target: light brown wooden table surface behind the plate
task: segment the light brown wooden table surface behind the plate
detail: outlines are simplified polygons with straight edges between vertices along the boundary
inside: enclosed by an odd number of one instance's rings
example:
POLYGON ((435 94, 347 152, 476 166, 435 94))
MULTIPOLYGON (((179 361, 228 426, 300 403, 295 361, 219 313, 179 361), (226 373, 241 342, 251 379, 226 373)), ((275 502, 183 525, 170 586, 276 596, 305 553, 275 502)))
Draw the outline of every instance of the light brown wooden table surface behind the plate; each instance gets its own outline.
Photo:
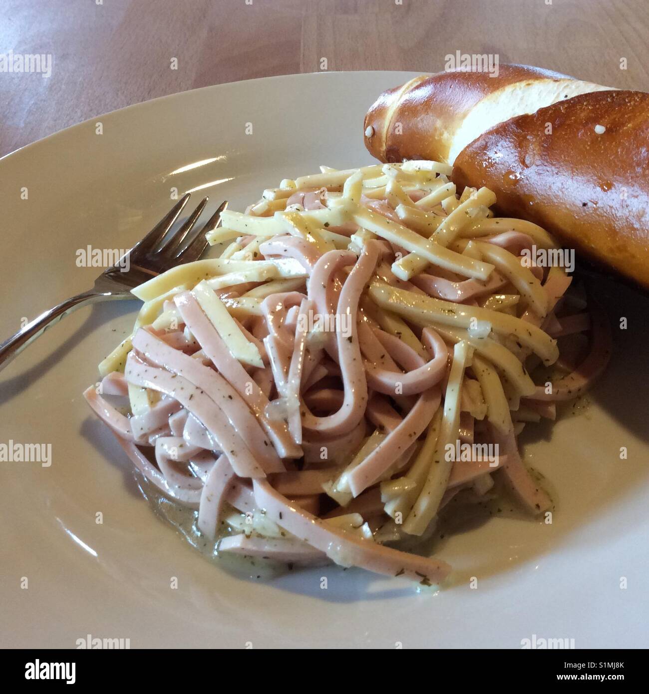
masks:
POLYGON ((52 60, 49 78, 0 72, 0 155, 132 103, 323 58, 438 71, 455 51, 494 53, 649 90, 647 0, 3 0, 0 26, 1 54, 52 60))

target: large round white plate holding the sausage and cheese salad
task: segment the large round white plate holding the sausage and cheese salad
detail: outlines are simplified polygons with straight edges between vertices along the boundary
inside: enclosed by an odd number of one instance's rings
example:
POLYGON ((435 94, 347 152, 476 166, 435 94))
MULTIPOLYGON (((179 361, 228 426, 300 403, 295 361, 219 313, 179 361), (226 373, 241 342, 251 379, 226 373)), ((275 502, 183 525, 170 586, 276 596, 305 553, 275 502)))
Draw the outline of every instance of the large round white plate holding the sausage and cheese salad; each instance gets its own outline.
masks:
MULTIPOLYGON (((128 248, 167 211, 171 187, 202 187, 212 209, 228 198, 242 210, 281 178, 368 163, 364 112, 411 76, 310 74, 208 87, 9 155, 0 162, 3 334, 90 287, 97 270, 78 268, 76 250, 128 248)), ((532 634, 574 638, 578 648, 649 645, 648 303, 615 287, 602 292, 615 328, 609 371, 582 414, 528 436, 528 456, 557 490, 553 524, 496 518, 450 537, 439 555, 459 578, 435 595, 339 568, 266 583, 203 559, 142 500, 130 464, 81 397, 137 303, 69 316, 0 375, 0 443, 51 443, 53 460, 48 468, 0 463, 1 645, 74 648, 87 634, 129 638, 132 648, 520 648, 532 634)))

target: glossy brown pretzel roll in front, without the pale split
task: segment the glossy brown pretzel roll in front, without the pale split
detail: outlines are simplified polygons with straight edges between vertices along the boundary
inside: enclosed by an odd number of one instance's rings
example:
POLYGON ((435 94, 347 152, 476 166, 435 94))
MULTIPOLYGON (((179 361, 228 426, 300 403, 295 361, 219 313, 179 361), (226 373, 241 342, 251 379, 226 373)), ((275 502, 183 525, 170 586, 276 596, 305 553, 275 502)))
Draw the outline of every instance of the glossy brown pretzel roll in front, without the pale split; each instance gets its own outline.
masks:
POLYGON ((453 180, 649 289, 649 94, 581 94, 508 120, 460 152, 453 180))

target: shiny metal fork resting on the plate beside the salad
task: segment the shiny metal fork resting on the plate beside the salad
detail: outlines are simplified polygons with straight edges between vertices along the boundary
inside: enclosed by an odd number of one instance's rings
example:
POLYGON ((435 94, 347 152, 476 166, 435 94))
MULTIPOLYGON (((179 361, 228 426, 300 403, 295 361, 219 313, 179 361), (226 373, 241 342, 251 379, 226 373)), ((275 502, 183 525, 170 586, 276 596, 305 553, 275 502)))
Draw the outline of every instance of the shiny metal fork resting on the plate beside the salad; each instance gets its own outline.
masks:
POLYGON ((167 232, 174 226, 174 222, 187 205, 188 200, 189 193, 180 198, 178 203, 151 229, 142 241, 137 242, 115 265, 104 270, 94 280, 92 289, 84 291, 83 294, 72 296, 49 311, 45 311, 31 323, 25 325, 22 330, 4 341, 0 345, 0 370, 22 352, 28 344, 40 337, 50 325, 58 323, 63 316, 67 316, 79 307, 98 301, 133 299, 135 296, 130 293, 133 287, 141 285, 142 282, 150 280, 171 267, 198 260, 203 255, 205 248, 208 247, 205 233, 219 226, 221 212, 225 210, 228 202, 221 203, 219 209, 212 214, 205 226, 194 230, 190 235, 189 232, 196 226, 196 221, 208 202, 208 198, 203 198, 196 210, 183 223, 183 226, 168 239, 165 239, 167 232))

